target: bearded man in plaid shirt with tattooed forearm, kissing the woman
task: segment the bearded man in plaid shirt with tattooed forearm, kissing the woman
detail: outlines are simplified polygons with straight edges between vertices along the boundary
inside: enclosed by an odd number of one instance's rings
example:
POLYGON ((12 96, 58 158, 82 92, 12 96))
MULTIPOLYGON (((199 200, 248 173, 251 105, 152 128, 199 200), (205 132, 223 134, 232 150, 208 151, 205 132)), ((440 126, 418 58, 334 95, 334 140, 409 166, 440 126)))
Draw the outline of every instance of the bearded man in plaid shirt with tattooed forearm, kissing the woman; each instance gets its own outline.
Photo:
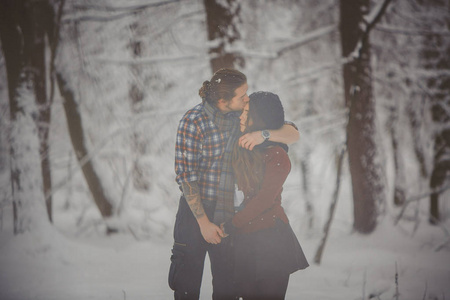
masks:
MULTIPOLYGON (((233 69, 217 71, 199 90, 202 103, 180 121, 176 180, 182 196, 174 227, 169 285, 175 299, 198 299, 206 252, 211 261, 213 299, 235 299, 233 252, 220 224, 234 214, 231 152, 239 136, 239 115, 248 103, 246 76, 233 69)), ((242 136, 249 150, 267 139, 290 144, 298 131, 289 125, 242 136)))

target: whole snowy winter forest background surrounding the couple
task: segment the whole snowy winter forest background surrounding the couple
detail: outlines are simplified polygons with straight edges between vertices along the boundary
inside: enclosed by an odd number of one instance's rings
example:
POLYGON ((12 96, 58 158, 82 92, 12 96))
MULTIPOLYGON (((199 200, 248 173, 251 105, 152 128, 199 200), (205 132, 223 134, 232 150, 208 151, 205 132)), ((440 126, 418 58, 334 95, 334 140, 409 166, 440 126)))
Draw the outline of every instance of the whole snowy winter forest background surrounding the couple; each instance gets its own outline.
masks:
POLYGON ((287 299, 450 299, 449 0, 0 0, 0 49, 0 299, 172 299, 176 130, 222 67, 299 128, 287 299))

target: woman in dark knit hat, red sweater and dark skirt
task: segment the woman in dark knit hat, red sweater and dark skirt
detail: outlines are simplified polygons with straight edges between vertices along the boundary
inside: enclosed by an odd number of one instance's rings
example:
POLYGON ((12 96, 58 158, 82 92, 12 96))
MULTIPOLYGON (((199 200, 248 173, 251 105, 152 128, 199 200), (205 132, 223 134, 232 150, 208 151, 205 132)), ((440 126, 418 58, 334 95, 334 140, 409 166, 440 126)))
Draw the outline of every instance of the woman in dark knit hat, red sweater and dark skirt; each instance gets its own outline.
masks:
MULTIPOLYGON (((240 120, 242 134, 280 128, 284 111, 279 97, 253 93, 240 120)), ((308 267, 281 206, 283 183, 291 169, 286 151, 286 145, 269 141, 253 151, 238 145, 233 150, 237 190, 243 197, 222 228, 234 241, 236 287, 245 300, 284 299, 289 275, 308 267)))

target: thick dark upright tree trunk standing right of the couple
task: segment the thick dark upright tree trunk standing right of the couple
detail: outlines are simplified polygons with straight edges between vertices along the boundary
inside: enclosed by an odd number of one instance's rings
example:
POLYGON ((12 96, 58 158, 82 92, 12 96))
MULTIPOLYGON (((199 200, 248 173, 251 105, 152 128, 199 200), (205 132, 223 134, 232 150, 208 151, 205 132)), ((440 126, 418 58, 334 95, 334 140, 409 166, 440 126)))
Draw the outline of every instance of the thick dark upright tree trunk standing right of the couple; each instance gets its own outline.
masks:
POLYGON ((344 92, 349 106, 347 148, 352 178, 354 224, 360 233, 372 232, 377 224, 383 185, 375 142, 375 99, 372 91, 370 44, 361 24, 369 11, 369 0, 340 1, 340 32, 344 57, 358 51, 344 65, 344 92))

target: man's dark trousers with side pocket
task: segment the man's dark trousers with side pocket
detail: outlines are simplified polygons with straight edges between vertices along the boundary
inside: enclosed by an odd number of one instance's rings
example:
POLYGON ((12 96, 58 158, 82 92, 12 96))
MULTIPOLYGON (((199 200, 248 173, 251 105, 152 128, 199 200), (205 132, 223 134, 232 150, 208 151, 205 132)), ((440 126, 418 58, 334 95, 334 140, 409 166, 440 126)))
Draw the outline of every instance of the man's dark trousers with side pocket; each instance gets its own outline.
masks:
MULTIPOLYGON (((205 207, 208 210, 207 207, 205 207)), ((211 215, 211 211, 207 211, 211 215)), ((213 300, 237 299, 233 284, 233 251, 230 238, 208 244, 186 200, 181 197, 174 228, 169 286, 175 300, 197 300, 200 295, 206 252, 211 261, 213 300)))

